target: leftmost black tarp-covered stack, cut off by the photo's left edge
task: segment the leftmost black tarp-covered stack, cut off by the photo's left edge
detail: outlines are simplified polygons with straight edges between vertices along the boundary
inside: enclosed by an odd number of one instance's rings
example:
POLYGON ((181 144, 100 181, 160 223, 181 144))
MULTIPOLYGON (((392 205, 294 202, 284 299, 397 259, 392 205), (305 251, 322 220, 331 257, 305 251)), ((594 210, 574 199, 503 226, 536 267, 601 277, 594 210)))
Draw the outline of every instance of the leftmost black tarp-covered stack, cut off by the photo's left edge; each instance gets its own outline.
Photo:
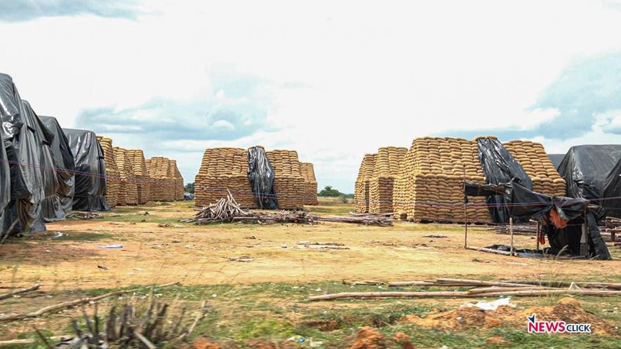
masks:
POLYGON ((45 198, 40 168, 42 139, 36 133, 36 121, 30 117, 34 113, 27 114, 24 105, 11 76, 0 74, 1 132, 11 172, 11 200, 1 222, 0 241, 20 231, 31 231, 45 198))

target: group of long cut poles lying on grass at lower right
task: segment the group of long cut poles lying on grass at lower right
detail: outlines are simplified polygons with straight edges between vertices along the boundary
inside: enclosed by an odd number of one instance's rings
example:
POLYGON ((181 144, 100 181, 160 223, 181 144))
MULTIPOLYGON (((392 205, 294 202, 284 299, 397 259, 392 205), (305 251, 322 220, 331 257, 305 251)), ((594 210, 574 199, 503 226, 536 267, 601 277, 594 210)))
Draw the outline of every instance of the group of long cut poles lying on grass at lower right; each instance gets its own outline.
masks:
MULTIPOLYGON (((370 285, 366 282, 349 282, 349 285, 370 285)), ((588 296, 621 296, 621 283, 606 282, 561 282, 545 280, 482 281, 462 279, 437 279, 435 281, 389 282, 389 287, 472 287, 467 291, 432 292, 341 292, 311 296, 310 301, 327 301, 350 298, 468 298, 487 296, 550 296, 554 294, 575 294, 588 296)))

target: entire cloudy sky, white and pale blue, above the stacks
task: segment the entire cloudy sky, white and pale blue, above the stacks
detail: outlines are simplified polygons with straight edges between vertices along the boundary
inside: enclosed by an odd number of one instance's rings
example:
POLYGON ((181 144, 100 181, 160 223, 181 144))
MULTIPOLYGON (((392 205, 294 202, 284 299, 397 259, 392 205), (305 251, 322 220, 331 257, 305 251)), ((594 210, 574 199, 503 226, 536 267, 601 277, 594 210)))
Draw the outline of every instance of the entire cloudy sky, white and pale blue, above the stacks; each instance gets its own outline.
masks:
POLYGON ((621 143, 621 0, 2 0, 0 72, 63 126, 178 159, 296 149, 352 192, 414 137, 621 143))

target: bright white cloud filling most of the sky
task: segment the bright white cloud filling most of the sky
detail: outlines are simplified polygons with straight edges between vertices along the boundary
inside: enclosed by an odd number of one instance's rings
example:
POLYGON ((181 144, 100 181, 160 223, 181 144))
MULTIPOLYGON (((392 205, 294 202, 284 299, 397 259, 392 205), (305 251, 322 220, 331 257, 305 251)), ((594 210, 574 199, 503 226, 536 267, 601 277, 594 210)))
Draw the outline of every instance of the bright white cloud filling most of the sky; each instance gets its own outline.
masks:
MULTIPOLYGON (((621 47, 621 12, 588 0, 148 4, 160 15, 0 23, 13 53, 3 55, 0 71, 13 76, 39 114, 63 125, 84 109, 131 109, 154 98, 191 103, 210 95, 243 104, 243 83, 215 81, 222 66, 265 81, 269 103, 259 107, 269 128, 252 136, 144 144, 116 136, 115 144, 142 146, 150 156, 180 156, 186 179, 206 146, 262 144, 297 149, 315 163, 320 186, 352 191, 363 154, 380 146, 551 120, 555 109, 529 109, 540 91, 573 57, 621 47)), ((135 119, 153 115, 164 117, 135 119)), ((251 119, 241 125, 255 127, 251 119)), ((562 149, 566 142, 546 145, 562 149)))

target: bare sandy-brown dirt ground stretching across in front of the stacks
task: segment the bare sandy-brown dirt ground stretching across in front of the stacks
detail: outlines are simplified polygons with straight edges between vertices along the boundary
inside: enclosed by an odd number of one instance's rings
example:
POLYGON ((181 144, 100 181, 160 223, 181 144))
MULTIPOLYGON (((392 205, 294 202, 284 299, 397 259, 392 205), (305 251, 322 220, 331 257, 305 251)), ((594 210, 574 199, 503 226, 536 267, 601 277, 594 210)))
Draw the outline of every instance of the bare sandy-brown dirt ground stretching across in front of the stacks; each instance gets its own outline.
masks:
MULTIPOLYGON (((333 207, 309 208, 330 213, 333 207)), ((105 219, 48 224, 47 233, 0 245, 0 286, 41 282, 44 290, 62 290, 173 281, 204 285, 484 276, 581 280, 596 275, 607 280, 621 273, 618 260, 554 261, 466 250, 463 227, 458 225, 192 226, 178 222, 194 212, 191 203, 178 202, 119 207, 106 213, 105 219), (55 238, 58 232, 63 235, 55 238), (347 249, 321 249, 300 242, 338 243, 347 249), (108 244, 123 248, 101 248, 108 244), (235 260, 240 257, 250 258, 235 260)), ((516 247, 535 247, 528 236, 516 236, 515 241, 516 247)), ((509 237, 474 226, 469 228, 468 242, 479 247, 508 245, 509 237)))

